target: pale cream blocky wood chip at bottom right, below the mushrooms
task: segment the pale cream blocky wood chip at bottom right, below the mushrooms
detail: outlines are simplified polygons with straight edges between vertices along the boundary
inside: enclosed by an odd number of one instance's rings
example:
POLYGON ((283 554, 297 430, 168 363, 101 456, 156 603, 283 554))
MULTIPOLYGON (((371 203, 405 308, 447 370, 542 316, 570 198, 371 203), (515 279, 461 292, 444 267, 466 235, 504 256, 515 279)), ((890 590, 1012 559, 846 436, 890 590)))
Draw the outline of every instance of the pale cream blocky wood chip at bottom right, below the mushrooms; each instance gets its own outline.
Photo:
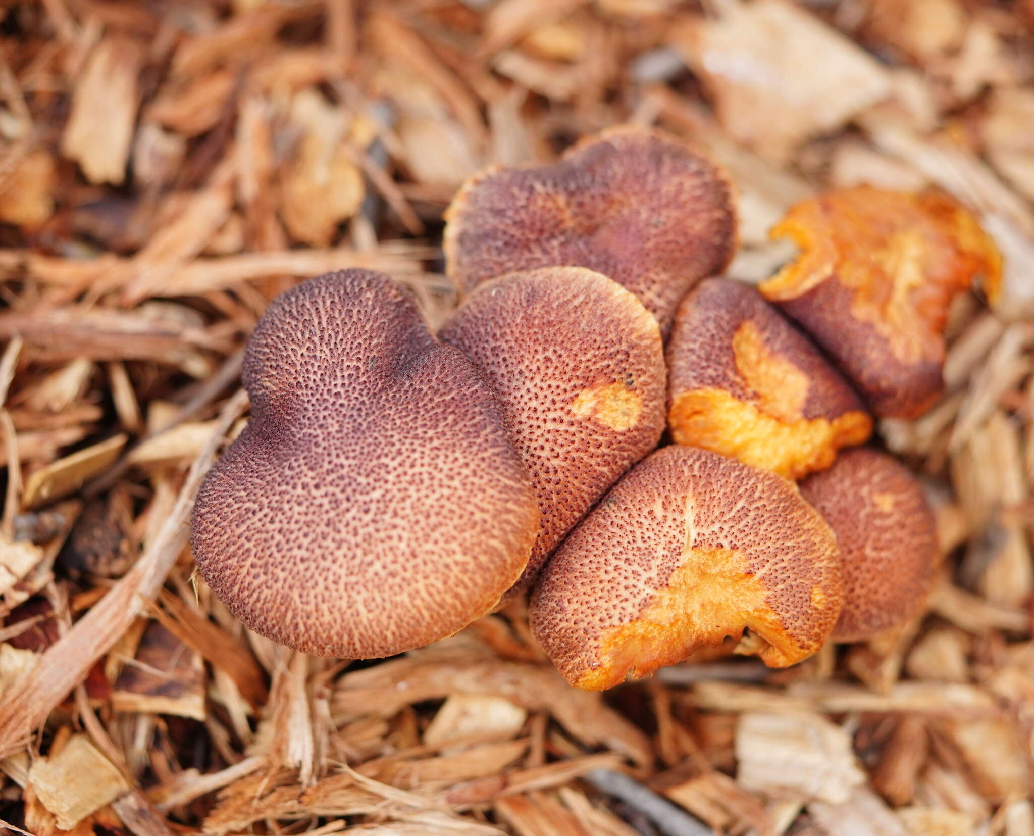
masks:
POLYGON ((865 782, 843 728, 816 714, 741 714, 736 778, 748 789, 843 804, 865 782))

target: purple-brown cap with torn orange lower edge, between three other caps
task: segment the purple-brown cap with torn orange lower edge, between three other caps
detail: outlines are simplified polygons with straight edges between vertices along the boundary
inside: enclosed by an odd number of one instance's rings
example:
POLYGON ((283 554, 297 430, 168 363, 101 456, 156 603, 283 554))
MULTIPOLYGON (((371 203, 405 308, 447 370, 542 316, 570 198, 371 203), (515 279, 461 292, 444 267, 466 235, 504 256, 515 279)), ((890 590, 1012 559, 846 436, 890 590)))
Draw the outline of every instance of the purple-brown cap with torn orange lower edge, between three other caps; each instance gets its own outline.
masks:
POLYGON ((703 447, 799 479, 863 444, 873 420, 817 348, 741 281, 709 278, 668 341, 668 423, 703 447))

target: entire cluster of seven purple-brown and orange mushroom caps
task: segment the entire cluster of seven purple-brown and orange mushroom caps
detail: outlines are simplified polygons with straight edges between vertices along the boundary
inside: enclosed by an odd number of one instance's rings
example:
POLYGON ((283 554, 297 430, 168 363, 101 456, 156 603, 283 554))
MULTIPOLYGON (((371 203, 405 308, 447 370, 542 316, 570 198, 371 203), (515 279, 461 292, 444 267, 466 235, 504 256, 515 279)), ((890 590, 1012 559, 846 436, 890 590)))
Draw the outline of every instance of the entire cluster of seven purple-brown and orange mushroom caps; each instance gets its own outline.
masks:
POLYGON ((996 291, 962 207, 825 195, 773 231, 801 251, 760 289, 708 278, 735 249, 728 182, 622 128, 484 172, 447 220, 464 300, 436 336, 392 279, 349 270, 281 295, 251 337, 251 421, 191 541, 248 627, 381 657, 534 588, 549 657, 602 689, 730 636, 793 664, 921 607, 920 484, 840 451, 872 414, 929 409, 951 298, 978 274, 996 291))

